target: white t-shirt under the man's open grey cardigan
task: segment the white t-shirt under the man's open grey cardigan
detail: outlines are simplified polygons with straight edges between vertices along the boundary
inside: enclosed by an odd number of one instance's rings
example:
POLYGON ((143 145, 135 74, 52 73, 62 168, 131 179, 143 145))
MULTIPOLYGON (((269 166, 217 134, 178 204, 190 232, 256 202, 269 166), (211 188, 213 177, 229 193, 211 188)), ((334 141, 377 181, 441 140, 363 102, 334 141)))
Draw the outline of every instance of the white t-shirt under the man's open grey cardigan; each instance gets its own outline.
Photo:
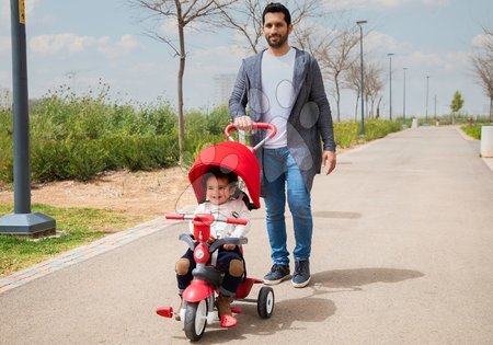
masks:
POLYGON ((283 56, 274 56, 268 50, 262 55, 263 122, 277 126, 277 134, 265 142, 265 148, 277 149, 287 146, 286 125, 295 103, 296 49, 283 56))

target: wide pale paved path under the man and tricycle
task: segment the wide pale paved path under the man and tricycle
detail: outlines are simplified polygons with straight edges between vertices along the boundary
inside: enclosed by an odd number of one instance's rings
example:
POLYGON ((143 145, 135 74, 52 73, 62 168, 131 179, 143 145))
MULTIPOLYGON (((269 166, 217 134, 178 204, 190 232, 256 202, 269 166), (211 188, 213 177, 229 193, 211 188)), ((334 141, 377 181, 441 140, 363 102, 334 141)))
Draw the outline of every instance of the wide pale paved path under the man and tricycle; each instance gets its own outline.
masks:
MULTIPOLYGON (((312 284, 276 286, 271 319, 245 304, 236 329, 209 326, 202 343, 492 344, 492 202, 479 142, 456 128, 345 152, 314 183, 312 284)), ((245 255, 262 277, 263 210, 253 217, 245 255)), ((0 344, 188 344, 177 322, 154 314, 176 304, 183 231, 153 220, 1 279, 0 344)))

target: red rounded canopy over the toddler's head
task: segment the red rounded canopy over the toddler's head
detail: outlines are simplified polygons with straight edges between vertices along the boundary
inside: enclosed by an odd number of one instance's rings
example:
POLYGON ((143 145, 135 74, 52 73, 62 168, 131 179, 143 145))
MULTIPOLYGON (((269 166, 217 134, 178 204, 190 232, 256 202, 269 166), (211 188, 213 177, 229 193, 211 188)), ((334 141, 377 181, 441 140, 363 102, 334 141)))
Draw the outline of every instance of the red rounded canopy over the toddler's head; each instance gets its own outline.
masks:
POLYGON ((198 203, 206 199, 202 176, 210 166, 220 166, 234 172, 243 180, 252 203, 260 208, 260 164, 251 148, 236 141, 225 141, 202 150, 188 172, 188 180, 198 203))

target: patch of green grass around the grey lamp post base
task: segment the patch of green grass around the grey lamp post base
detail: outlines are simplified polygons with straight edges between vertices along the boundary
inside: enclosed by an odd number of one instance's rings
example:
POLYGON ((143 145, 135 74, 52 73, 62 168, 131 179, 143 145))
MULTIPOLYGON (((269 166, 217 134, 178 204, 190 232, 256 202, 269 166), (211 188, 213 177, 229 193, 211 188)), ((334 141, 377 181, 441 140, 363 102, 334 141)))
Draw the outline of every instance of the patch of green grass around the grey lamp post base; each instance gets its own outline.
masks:
MULTIPOLYGON (((0 217, 13 211, 12 205, 0 204, 0 217)), ((70 249, 90 243, 107 232, 115 232, 140 219, 112 210, 79 207, 51 207, 34 204, 33 212, 42 212, 57 221, 60 237, 34 241, 27 237, 0 235, 0 276, 26 268, 70 249)))

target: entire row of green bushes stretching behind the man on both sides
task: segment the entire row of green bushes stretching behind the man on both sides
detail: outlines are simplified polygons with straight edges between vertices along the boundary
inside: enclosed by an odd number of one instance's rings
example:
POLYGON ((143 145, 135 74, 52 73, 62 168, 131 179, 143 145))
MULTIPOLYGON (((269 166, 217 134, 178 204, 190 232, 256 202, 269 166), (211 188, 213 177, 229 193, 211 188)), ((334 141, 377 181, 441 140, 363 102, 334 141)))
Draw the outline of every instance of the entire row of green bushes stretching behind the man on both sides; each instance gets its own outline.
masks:
MULTIPOLYGON (((151 170, 177 163, 177 117, 168 102, 116 104, 100 81, 95 92, 78 96, 67 85, 30 103, 31 172, 37 182, 88 181, 105 170, 151 170)), ((226 105, 185 116, 184 165, 207 146, 226 140, 226 105)), ((401 123, 368 119, 365 140, 401 129, 401 123)), ((337 145, 358 141, 359 124, 334 123, 337 145)), ((12 113, 0 111, 0 179, 11 182, 12 113)))

